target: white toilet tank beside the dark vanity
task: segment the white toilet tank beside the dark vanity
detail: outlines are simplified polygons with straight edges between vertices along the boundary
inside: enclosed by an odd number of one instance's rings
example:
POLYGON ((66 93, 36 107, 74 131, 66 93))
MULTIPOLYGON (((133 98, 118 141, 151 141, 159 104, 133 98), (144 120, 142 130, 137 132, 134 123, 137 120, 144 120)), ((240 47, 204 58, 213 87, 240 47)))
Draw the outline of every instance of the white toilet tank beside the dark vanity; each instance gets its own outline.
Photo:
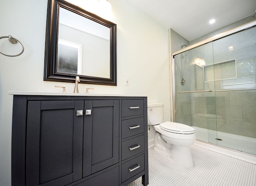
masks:
POLYGON ((157 125, 164 121, 164 103, 148 104, 148 125, 157 125))

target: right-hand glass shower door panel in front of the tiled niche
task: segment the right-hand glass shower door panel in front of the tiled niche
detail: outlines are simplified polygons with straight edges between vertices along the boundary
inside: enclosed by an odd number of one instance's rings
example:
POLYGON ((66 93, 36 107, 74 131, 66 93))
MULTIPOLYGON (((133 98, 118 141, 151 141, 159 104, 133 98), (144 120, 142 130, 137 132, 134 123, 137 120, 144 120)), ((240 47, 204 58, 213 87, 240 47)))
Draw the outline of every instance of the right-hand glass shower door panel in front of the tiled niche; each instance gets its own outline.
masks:
POLYGON ((256 27, 212 45, 218 145, 256 155, 256 27))

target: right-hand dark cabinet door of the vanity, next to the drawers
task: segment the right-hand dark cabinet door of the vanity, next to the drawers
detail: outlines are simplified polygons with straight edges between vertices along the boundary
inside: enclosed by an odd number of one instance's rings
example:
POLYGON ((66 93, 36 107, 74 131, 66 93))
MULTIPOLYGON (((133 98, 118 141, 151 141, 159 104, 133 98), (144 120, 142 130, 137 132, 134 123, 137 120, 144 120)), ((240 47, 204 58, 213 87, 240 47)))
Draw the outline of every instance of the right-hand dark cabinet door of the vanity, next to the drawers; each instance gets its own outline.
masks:
POLYGON ((118 163, 119 100, 85 100, 83 176, 118 163))

